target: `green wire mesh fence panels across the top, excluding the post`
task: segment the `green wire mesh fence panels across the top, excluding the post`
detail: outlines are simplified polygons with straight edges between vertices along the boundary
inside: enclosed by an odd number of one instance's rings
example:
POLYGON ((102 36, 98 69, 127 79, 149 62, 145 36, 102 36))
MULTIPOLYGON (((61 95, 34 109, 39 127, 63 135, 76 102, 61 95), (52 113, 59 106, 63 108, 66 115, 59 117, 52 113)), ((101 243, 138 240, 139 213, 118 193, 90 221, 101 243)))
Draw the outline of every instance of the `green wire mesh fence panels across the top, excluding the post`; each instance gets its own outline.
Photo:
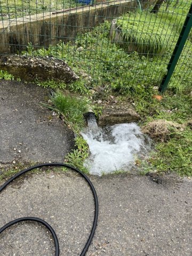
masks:
MULTIPOLYGON (((63 59, 85 87, 142 93, 161 84, 190 5, 191 0, 1 0, 0 54, 63 59)), ((191 86, 191 57, 190 30, 169 84, 173 90, 191 86)))

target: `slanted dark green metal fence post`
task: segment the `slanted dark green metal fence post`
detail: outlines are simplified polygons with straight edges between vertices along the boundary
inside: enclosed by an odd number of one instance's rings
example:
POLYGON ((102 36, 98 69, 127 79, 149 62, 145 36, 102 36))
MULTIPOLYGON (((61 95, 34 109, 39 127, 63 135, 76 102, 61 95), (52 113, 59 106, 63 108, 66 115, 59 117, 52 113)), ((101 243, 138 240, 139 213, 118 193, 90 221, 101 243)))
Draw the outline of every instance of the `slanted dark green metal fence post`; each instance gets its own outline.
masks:
POLYGON ((163 93, 167 89, 167 86, 169 84, 173 71, 175 69, 175 66, 177 65, 178 59, 181 55, 182 49, 187 41, 191 27, 192 27, 192 4, 190 6, 189 13, 187 14, 185 23, 182 27, 181 33, 179 35, 178 42, 171 56, 170 62, 167 66, 167 74, 164 76, 162 83, 159 87, 159 92, 161 93, 163 93))

